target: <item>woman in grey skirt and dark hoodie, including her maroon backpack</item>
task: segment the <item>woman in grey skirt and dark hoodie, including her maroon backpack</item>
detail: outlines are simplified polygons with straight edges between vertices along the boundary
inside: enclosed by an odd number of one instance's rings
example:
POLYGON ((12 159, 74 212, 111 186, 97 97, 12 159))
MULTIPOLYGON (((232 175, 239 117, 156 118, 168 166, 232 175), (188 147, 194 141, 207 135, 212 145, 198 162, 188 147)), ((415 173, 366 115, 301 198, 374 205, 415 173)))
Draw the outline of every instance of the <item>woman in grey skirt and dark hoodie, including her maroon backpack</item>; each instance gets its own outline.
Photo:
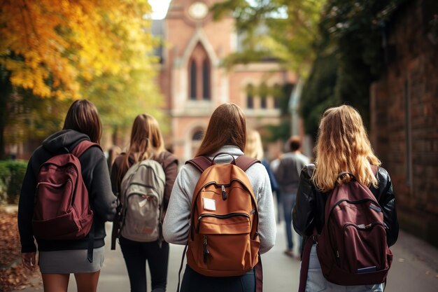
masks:
POLYGON ((104 223, 116 206, 100 137, 96 107, 77 100, 63 130, 45 139, 27 165, 18 204, 22 263, 35 267, 36 239, 46 292, 67 291, 71 273, 78 291, 97 291, 104 223))

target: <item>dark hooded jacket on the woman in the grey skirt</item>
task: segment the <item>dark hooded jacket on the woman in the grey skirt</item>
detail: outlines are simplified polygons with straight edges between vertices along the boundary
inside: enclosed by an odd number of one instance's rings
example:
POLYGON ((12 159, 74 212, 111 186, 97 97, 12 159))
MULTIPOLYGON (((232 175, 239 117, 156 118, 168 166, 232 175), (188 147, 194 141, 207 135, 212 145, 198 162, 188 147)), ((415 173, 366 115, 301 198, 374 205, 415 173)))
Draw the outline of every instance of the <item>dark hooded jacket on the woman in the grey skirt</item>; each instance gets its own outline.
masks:
MULTIPOLYGON (((32 154, 27 171, 24 176, 18 203, 18 230, 20 232, 21 251, 34 252, 34 233, 32 218, 34 216, 34 195, 36 190, 36 177, 43 162, 52 156, 69 152, 80 141, 90 138, 74 130, 62 130, 52 134, 36 148, 32 154)), ((104 246, 105 221, 113 221, 115 215, 116 198, 111 191, 111 181, 108 165, 104 153, 98 147, 91 147, 80 155, 82 176, 90 196, 90 206, 94 211, 94 248, 104 246)), ((68 249, 87 249, 88 238, 76 240, 43 240, 36 239, 39 251, 59 251, 68 249)))

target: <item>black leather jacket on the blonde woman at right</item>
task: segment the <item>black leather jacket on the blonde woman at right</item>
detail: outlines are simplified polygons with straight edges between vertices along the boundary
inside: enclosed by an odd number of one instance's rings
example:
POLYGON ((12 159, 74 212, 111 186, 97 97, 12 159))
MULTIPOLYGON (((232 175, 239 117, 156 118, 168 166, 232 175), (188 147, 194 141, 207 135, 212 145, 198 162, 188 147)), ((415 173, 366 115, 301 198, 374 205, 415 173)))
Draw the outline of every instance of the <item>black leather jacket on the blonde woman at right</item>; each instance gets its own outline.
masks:
MULTIPOLYGON (((320 193, 313 185, 311 175, 314 169, 314 164, 306 165, 302 169, 299 176, 297 202, 292 211, 294 229, 304 237, 303 243, 307 237, 313 234, 313 228, 316 227, 318 233, 323 229, 325 202, 327 202, 329 195, 328 193, 320 193)), ((391 246, 397 241, 399 230, 393 183, 383 167, 378 168, 376 178, 379 183, 378 188, 370 187, 369 189, 383 208, 383 220, 389 227, 387 242, 388 246, 391 246)), ((302 245, 304 246, 304 244, 302 245)))

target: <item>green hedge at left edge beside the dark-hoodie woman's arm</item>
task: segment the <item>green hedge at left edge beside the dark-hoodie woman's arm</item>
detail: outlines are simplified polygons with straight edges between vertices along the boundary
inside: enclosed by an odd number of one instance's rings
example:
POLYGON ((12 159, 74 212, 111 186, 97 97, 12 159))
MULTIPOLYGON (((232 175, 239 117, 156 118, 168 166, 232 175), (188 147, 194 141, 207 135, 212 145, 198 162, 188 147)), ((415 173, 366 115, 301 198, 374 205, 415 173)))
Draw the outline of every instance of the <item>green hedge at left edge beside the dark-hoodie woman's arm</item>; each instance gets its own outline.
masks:
POLYGON ((17 204, 27 169, 24 160, 0 160, 0 204, 17 204))

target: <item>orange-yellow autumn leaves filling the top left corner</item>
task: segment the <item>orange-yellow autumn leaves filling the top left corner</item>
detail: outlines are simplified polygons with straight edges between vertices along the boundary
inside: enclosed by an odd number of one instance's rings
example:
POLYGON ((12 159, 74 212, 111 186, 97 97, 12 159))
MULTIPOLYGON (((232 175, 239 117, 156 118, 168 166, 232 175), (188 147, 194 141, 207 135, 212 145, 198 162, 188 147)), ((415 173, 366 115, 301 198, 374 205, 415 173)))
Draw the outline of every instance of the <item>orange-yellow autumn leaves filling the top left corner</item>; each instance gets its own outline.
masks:
POLYGON ((119 36, 139 32, 150 9, 129 0, 3 0, 0 7, 0 65, 11 83, 60 98, 80 96, 79 77, 126 73, 123 46, 139 40, 119 36))

